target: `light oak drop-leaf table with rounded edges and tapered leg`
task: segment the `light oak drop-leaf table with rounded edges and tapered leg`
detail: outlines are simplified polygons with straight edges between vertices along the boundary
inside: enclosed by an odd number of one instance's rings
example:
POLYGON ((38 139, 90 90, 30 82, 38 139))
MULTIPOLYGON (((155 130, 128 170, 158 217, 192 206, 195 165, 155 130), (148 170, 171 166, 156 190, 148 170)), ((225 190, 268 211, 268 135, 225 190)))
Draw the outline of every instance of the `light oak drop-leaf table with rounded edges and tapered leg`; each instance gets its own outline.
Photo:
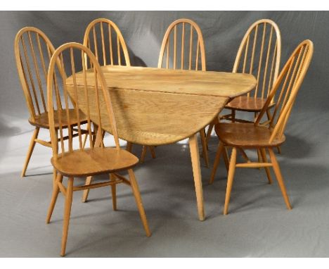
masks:
MULTIPOLYGON (((125 66, 103 66, 102 70, 121 139, 150 146, 189 139, 198 215, 200 220, 204 220, 197 134, 214 120, 229 100, 255 87, 254 76, 125 66)), ((86 82, 87 89, 94 89, 93 73, 86 73, 86 82)), ((77 73, 75 82, 68 77, 66 85, 72 99, 86 113, 84 75, 77 73), (78 96, 73 92, 74 83, 82 88, 78 96)), ((96 104, 96 92, 87 92, 89 104, 96 104)), ((100 101, 105 112, 105 102, 100 101)), ((89 113, 91 120, 97 124, 98 117, 91 107, 89 113)), ((111 133, 106 115, 104 113, 101 118, 103 129, 111 133)))

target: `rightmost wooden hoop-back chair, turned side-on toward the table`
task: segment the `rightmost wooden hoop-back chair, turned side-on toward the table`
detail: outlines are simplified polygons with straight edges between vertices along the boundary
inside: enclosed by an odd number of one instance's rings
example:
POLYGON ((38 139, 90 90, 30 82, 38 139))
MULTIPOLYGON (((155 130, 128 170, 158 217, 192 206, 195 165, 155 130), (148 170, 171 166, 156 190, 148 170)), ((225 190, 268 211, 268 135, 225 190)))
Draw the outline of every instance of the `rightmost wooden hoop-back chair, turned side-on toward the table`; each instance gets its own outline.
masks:
POLYGON ((291 209, 280 167, 273 152, 273 147, 280 146, 280 144, 285 142, 285 135, 283 133, 288 123, 288 118, 292 111, 292 106, 295 103, 297 93, 302 85, 307 69, 309 68, 313 50, 313 43, 310 40, 305 40, 297 46, 281 70, 278 80, 274 83, 255 123, 218 123, 215 125, 215 130, 219 137, 219 146, 214 161, 210 184, 214 181, 214 175, 219 164, 220 156, 223 154, 225 157, 225 148, 232 147, 232 154, 228 167, 224 215, 228 213, 228 202, 231 196, 233 177, 236 168, 265 168, 266 175, 271 184, 272 180, 269 168, 272 167, 283 194, 285 204, 288 209, 291 209), (266 114, 266 111, 268 111, 275 97, 276 103, 273 106, 273 114, 271 115, 269 125, 261 125, 260 121, 264 114, 266 114), (241 149, 257 149, 257 151, 260 151, 262 154, 262 161, 236 163, 237 151, 241 149), (270 162, 267 161, 266 150, 269 151, 270 162))

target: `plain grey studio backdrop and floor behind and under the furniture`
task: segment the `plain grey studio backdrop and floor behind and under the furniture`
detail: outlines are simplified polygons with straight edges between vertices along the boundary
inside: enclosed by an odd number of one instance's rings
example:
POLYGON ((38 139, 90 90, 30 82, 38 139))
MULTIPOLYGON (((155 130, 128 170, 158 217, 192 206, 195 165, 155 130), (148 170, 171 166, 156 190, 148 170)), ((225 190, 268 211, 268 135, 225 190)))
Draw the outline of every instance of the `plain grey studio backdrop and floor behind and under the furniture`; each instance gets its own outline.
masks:
MULTIPOLYGON (((177 18, 191 18, 200 25, 207 70, 230 71, 247 27, 260 18, 270 18, 280 27, 281 66, 299 42, 311 39, 314 57, 278 156, 294 209, 285 209, 277 185, 267 186, 264 172, 243 170, 236 175, 231 213, 223 217, 226 181, 221 164, 212 186, 207 185, 210 170, 202 167, 207 220, 201 223, 188 149, 161 146, 155 160, 148 156, 136 169, 153 237, 144 237, 129 190, 118 190, 118 213, 109 213, 108 190, 94 191, 91 203, 81 204, 75 196, 68 255, 328 256, 329 13, 297 11, 1 11, 0 256, 57 256, 62 225, 63 199, 54 222, 44 225, 51 194, 49 149, 37 146, 27 170, 30 177, 19 176, 33 127, 27 124, 15 67, 15 34, 27 25, 39 27, 57 47, 82 42, 86 25, 101 17, 120 27, 132 64, 151 67, 157 65, 167 26, 177 18)), ((212 137, 211 161, 216 149, 217 139, 212 137)), ((135 153, 140 154, 138 147, 135 153)))

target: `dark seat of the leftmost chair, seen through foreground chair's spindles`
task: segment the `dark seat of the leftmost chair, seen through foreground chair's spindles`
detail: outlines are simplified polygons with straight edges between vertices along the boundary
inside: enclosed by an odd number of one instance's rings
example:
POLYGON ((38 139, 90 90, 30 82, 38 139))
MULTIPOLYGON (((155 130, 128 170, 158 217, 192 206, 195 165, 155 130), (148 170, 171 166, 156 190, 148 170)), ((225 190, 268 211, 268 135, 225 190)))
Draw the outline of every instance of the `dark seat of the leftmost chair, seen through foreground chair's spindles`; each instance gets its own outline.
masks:
MULTIPOLYGON (((70 115, 70 125, 77 125, 78 119, 77 119, 77 111, 75 109, 69 109, 69 115, 70 115)), ((66 111, 60 111, 60 117, 62 118, 62 126, 65 128, 67 127, 67 114, 66 111)), ((55 118, 55 127, 58 128, 58 112, 54 111, 54 118, 55 118)), ((82 111, 79 111, 79 121, 81 124, 87 123, 86 115, 82 113, 82 111)), ((37 115, 35 120, 32 120, 32 118, 29 119, 29 123, 31 125, 46 128, 49 129, 49 119, 48 119, 48 112, 41 113, 40 115, 37 115)))

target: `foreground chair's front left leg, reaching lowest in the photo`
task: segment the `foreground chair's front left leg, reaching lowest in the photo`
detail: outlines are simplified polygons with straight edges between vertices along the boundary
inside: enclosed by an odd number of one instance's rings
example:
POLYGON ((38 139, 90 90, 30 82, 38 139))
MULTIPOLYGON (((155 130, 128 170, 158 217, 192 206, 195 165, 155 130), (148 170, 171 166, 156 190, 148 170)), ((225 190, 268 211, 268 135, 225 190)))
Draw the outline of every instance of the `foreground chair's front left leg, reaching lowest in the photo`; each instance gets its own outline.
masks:
POLYGON ((70 177, 67 183, 66 196, 65 196, 65 209, 64 209, 64 221, 63 221, 63 235, 62 235, 62 249, 60 256, 65 256, 67 232, 70 224, 72 197, 73 197, 73 177, 70 177))

